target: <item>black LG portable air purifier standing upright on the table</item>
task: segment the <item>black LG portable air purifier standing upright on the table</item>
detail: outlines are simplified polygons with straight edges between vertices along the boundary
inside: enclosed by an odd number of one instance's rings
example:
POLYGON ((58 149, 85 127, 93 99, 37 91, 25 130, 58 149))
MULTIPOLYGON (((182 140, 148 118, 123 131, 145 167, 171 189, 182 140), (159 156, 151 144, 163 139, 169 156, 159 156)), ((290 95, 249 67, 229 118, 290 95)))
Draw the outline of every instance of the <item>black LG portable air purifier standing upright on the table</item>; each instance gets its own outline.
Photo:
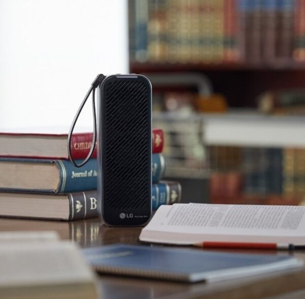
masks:
POLYGON ((98 210, 105 225, 144 225, 151 214, 151 84, 136 74, 99 84, 98 210))

